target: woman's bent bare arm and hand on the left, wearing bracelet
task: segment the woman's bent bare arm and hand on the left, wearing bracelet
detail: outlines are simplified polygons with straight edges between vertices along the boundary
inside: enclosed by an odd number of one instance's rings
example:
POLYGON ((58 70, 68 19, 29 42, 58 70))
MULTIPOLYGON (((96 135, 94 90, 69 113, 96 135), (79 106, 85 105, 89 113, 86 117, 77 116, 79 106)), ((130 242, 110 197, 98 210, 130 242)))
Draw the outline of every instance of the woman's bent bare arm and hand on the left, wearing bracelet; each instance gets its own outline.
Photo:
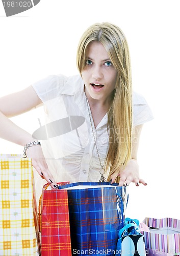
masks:
MULTIPOLYGON (((31 86, 23 91, 0 98, 0 137, 22 146, 33 142, 32 135, 17 126, 8 117, 30 111, 41 103, 42 101, 31 86)), ((57 184, 48 170, 41 146, 28 148, 27 156, 32 158, 32 165, 39 175, 55 188, 57 184)))

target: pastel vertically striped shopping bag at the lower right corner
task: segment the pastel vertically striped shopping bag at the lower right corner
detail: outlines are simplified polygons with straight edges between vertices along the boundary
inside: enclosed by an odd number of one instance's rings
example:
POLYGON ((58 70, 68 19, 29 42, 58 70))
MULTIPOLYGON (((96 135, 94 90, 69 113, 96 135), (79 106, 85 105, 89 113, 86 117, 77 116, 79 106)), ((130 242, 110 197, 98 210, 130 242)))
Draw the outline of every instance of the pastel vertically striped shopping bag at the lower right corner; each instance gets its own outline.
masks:
POLYGON ((149 228, 149 231, 141 230, 146 254, 180 255, 180 220, 145 218, 143 223, 149 228))

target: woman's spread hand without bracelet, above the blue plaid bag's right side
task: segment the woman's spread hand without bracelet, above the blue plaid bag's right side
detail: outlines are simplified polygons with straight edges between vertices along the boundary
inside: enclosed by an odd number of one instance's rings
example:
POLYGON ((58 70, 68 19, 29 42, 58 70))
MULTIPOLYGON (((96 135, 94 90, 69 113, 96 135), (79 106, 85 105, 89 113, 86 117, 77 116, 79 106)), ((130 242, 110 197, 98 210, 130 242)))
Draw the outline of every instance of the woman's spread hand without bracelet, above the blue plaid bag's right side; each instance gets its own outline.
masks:
POLYGON ((139 166, 136 159, 131 159, 118 174, 111 175, 113 183, 116 177, 120 177, 119 186, 128 186, 131 182, 134 182, 136 186, 139 186, 140 183, 147 185, 147 183, 139 178, 139 166))

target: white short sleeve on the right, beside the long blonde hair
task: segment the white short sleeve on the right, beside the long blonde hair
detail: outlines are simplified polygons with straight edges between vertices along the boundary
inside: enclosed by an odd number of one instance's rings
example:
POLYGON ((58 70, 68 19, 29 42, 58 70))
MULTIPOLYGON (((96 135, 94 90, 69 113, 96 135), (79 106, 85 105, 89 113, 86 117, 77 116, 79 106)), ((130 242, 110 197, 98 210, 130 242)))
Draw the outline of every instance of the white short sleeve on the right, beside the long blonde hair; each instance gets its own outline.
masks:
POLYGON ((145 98, 133 92, 133 126, 137 126, 153 119, 152 111, 145 98))

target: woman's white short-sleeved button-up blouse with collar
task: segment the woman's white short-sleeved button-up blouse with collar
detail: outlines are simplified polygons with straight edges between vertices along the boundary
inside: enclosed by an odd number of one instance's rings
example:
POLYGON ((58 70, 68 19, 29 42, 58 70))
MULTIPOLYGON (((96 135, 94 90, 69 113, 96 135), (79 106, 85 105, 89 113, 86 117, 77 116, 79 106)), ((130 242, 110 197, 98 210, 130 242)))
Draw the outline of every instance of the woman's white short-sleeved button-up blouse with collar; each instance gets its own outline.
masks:
MULTIPOLYGON (((41 141, 49 170, 56 182, 99 181, 101 167, 81 76, 52 75, 35 82, 33 88, 44 103, 46 123, 33 136, 41 141)), ((134 92, 133 125, 152 118, 146 100, 134 92)), ((109 140, 107 122, 106 114, 96 129, 93 127, 102 165, 109 140)), ((39 180, 42 181, 40 177, 39 180)))

